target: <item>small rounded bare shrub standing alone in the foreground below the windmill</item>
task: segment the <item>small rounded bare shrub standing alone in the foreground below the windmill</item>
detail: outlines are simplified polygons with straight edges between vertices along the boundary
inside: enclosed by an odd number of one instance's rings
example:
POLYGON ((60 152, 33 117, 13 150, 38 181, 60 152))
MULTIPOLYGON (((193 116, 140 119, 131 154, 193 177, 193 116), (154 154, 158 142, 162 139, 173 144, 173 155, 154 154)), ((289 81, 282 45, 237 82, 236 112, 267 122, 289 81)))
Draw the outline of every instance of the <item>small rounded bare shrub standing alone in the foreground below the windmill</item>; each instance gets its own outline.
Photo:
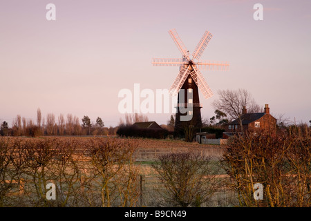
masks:
POLYGON ((164 199, 173 206, 201 206, 218 189, 215 164, 200 153, 160 155, 152 167, 166 189, 164 199))

